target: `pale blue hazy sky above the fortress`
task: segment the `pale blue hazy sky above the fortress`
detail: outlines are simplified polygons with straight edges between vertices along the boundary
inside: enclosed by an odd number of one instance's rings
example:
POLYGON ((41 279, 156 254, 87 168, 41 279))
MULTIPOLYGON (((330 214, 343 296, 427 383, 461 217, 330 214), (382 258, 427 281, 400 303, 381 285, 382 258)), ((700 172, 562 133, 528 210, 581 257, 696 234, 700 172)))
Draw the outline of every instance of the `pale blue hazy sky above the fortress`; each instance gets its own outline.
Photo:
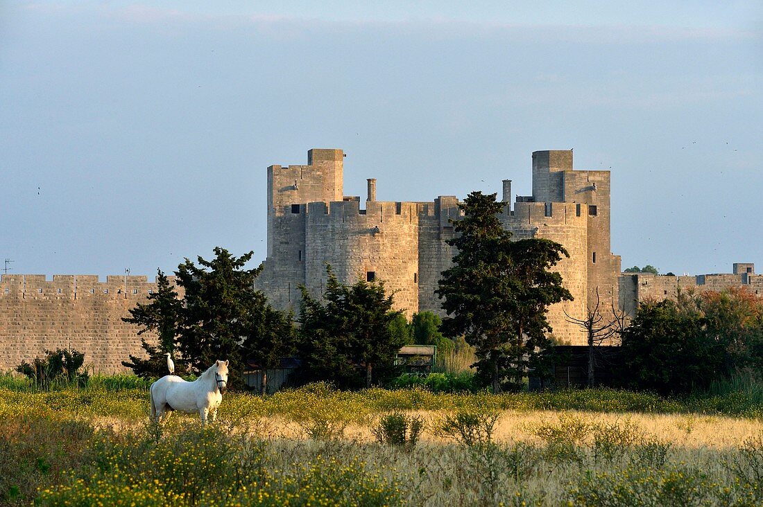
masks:
POLYGON ((760 2, 0 0, 0 272, 266 257, 266 168, 346 152, 346 195, 612 178, 623 268, 763 272, 760 2))

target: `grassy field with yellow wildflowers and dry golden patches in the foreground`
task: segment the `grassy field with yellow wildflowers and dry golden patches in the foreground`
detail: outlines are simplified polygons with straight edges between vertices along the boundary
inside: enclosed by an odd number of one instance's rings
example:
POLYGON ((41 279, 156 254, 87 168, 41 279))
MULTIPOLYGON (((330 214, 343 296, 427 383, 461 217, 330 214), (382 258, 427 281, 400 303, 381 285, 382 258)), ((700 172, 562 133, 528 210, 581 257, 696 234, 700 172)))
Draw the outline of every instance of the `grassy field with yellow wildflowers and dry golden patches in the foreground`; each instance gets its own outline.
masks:
POLYGON ((763 505, 763 406, 742 393, 317 384, 228 393, 201 428, 150 423, 145 385, 126 378, 6 383, 0 417, 0 505, 763 505), (415 444, 391 443, 391 421, 414 419, 415 444))

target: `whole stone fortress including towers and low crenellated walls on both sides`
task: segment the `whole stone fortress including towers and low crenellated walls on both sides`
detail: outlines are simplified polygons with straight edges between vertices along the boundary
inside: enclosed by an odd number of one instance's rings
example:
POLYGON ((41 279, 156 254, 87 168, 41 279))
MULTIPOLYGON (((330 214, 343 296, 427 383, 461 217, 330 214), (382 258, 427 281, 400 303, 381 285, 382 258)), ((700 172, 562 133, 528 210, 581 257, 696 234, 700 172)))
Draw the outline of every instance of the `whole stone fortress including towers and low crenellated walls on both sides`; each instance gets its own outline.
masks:
MULTIPOLYGON (((298 308, 304 285, 323 293, 326 263, 340 281, 383 280, 407 316, 432 310, 442 314, 434 294, 439 274, 453 250, 449 219, 460 216, 455 196, 428 202, 377 201, 375 180, 368 195, 343 195, 343 152, 311 149, 307 165, 268 168, 268 253, 256 281, 274 306, 298 308)), ((735 264, 733 274, 664 276, 620 273, 620 257, 610 252, 610 173, 578 171, 572 152, 533 152, 533 194, 511 203, 511 181, 503 181, 501 213, 514 237, 541 237, 570 253, 556 267, 574 301, 549 309, 553 335, 583 345, 581 329, 564 310, 584 316, 596 302, 613 302, 630 315, 640 301, 676 299, 678 290, 747 287, 763 296, 763 275, 752 264, 735 264)), ((142 355, 137 327, 122 322, 129 310, 156 290, 146 276, 3 274, 0 277, 0 371, 31 361, 45 350, 76 348, 96 373, 118 373, 128 355, 142 355)), ((146 339, 156 336, 146 333, 146 339)))

